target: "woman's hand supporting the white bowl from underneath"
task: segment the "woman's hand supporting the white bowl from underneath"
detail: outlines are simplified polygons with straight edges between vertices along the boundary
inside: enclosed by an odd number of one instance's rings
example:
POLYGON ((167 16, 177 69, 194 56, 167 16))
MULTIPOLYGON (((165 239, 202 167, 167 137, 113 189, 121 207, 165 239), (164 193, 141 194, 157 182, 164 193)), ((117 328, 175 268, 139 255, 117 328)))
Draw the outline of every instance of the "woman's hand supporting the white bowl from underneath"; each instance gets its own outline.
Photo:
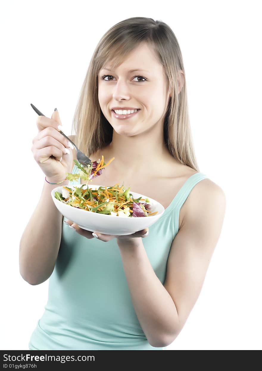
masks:
POLYGON ((149 233, 149 229, 146 228, 146 229, 142 229, 140 231, 137 231, 133 234, 126 234, 126 235, 123 235, 123 236, 114 236, 113 234, 102 234, 102 233, 98 233, 96 231, 94 232, 91 232, 91 231, 88 231, 86 229, 83 229, 83 228, 80 228, 77 224, 73 223, 73 221, 71 220, 64 220, 64 223, 68 224, 69 227, 73 228, 76 230, 77 233, 81 234, 81 236, 84 236, 88 239, 91 239, 91 238, 94 238, 96 237, 97 239, 101 240, 101 241, 104 241, 104 242, 108 242, 110 240, 112 240, 113 238, 116 237, 117 239, 117 242, 135 242, 135 239, 137 237, 146 237, 149 233), (94 236, 94 234, 96 234, 96 236, 94 236))

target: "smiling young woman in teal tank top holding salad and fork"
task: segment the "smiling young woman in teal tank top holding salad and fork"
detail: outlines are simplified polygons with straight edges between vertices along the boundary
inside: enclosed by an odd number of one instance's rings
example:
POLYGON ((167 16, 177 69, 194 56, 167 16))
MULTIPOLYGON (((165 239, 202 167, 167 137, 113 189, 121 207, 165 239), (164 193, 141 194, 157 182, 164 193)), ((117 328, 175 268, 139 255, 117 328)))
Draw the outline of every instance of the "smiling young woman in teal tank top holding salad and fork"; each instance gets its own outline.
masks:
MULTIPOLYGON (((49 184, 30 223, 40 207, 42 214, 53 207, 48 195, 57 185, 52 184, 62 183, 66 171, 77 172, 76 153, 62 152, 67 143, 58 124, 58 111, 51 119, 37 119, 32 151, 49 184), (50 145, 53 152, 47 152, 50 145)), ((20 272, 31 284, 50 277, 48 302, 29 349, 162 350, 195 305, 225 214, 223 190, 196 164, 182 55, 168 25, 134 17, 102 37, 82 86, 74 129, 73 141, 92 161, 115 157, 93 184, 123 183, 159 201, 165 212, 147 230, 111 236, 83 230, 72 220, 61 230, 61 215, 53 207, 48 220, 44 214, 46 235, 40 227, 39 234, 34 231, 38 241, 49 240, 41 256, 31 243, 30 257, 34 252, 42 262, 30 265, 31 276, 23 263, 27 227, 20 272), (128 116, 128 109, 138 111, 128 116)), ((62 184, 70 183, 79 182, 62 184)))

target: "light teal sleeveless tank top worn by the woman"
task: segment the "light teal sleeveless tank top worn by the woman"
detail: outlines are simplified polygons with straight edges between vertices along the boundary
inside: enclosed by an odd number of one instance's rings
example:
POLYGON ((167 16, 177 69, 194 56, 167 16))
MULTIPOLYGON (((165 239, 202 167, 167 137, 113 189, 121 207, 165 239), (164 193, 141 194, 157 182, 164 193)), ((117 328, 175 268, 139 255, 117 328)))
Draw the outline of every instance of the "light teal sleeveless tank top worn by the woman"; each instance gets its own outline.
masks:
MULTIPOLYGON (((79 169, 74 165, 72 173, 79 169)), ((148 259, 164 284, 179 211, 202 173, 190 176, 143 239, 148 259)), ((69 182, 79 184, 78 181, 69 182)), ((62 223, 48 299, 29 341, 30 350, 163 350, 152 347, 130 297, 116 239, 86 239, 62 223)))

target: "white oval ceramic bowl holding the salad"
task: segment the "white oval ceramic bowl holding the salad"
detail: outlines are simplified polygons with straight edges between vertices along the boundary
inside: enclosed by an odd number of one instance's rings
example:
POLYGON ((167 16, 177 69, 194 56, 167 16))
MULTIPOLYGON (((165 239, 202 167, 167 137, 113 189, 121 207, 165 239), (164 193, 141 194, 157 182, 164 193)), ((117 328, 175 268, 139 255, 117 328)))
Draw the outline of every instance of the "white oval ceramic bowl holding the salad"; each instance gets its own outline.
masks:
MULTIPOLYGON (((74 189, 74 187, 81 187, 82 184, 66 185, 66 187, 74 189)), ((100 185, 90 184, 93 190, 97 190, 100 185)), ((157 214, 145 217, 120 217, 110 214, 92 213, 92 211, 78 209, 77 207, 64 204, 54 197, 55 192, 62 193, 63 186, 56 187, 52 190, 51 196, 54 204, 60 213, 68 220, 72 220, 80 228, 89 230, 91 232, 99 232, 103 234, 113 234, 115 236, 123 236, 125 234, 132 234, 147 227, 152 226, 163 214, 165 208, 153 198, 147 197, 143 194, 132 192, 133 198, 148 198, 151 202, 150 213, 157 211, 157 214)))

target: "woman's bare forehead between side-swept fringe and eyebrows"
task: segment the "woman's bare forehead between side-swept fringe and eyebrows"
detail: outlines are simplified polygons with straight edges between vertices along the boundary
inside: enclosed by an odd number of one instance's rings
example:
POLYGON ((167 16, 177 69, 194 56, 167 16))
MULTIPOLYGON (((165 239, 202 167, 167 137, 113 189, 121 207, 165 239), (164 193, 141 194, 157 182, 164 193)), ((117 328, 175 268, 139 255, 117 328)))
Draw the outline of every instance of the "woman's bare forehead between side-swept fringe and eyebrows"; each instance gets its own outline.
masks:
MULTIPOLYGON (((115 60, 113 61, 115 62, 115 60)), ((101 69, 113 70, 113 63, 105 63, 101 69)), ((123 72, 134 72, 143 70, 145 72, 157 72, 162 70, 162 65, 157 60, 152 47, 143 43, 133 49, 123 62, 114 70, 123 72)))

